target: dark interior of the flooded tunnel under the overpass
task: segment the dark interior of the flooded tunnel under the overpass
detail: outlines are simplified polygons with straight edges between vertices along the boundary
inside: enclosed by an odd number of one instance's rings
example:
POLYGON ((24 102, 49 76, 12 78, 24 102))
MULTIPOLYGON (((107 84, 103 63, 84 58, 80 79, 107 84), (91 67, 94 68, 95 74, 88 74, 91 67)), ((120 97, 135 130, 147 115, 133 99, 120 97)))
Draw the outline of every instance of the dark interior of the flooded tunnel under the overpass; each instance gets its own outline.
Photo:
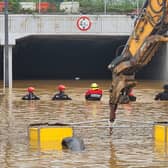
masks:
MULTIPOLYGON (((127 39, 127 36, 30 36, 19 39, 13 47, 13 79, 111 79, 107 65, 127 39)), ((120 53, 122 47, 118 51, 120 53)), ((0 78, 3 79, 2 46, 0 57, 0 78)), ((163 58, 156 54, 137 72, 136 78, 160 80, 161 60, 163 58)))

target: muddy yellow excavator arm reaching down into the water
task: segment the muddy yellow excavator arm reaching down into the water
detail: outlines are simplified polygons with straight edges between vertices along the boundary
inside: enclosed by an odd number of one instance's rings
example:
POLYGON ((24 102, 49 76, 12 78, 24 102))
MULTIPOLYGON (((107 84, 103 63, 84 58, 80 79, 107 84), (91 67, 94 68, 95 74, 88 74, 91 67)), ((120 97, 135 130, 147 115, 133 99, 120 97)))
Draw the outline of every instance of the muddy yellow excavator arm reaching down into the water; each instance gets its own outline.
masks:
POLYGON ((110 121, 115 120, 123 90, 136 85, 135 73, 148 64, 161 42, 167 42, 168 0, 146 0, 122 53, 108 68, 112 71, 110 121))

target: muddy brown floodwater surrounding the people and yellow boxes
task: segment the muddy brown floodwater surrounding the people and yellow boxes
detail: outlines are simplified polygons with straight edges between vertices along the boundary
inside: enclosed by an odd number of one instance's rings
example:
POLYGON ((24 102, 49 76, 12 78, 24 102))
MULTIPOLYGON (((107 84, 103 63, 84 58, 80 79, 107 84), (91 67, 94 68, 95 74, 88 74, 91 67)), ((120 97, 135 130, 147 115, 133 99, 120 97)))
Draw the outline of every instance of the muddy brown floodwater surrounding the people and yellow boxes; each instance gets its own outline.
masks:
MULTIPOLYGON (((167 168, 168 147, 156 146, 155 121, 168 121, 168 102, 156 102, 154 96, 162 82, 139 81, 134 93, 137 101, 119 105, 112 135, 107 122, 84 124, 74 132, 84 140, 85 151, 32 150, 28 125, 40 122, 74 123, 104 120, 109 117, 110 80, 14 81, 13 89, 1 97, 0 168, 167 168), (88 102, 84 93, 91 82, 103 89, 100 102, 88 102), (52 101, 56 86, 63 83, 71 101, 52 101), (36 88, 39 101, 23 101, 28 86, 36 88), (143 124, 149 123, 149 124, 143 124), (151 123, 151 124, 150 124, 151 123)), ((2 83, 1 83, 2 88, 2 83)), ((3 89, 1 90, 1 92, 3 89)))

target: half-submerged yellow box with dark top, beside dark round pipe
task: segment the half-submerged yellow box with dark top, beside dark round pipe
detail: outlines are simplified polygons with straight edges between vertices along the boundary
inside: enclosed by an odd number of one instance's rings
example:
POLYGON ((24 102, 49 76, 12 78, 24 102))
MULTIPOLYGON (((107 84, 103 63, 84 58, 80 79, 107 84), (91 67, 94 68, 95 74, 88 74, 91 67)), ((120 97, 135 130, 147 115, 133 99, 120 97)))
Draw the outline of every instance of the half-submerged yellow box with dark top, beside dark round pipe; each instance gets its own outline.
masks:
POLYGON ((73 129, 67 124, 31 124, 28 128, 31 149, 62 150, 62 140, 73 136, 73 129))

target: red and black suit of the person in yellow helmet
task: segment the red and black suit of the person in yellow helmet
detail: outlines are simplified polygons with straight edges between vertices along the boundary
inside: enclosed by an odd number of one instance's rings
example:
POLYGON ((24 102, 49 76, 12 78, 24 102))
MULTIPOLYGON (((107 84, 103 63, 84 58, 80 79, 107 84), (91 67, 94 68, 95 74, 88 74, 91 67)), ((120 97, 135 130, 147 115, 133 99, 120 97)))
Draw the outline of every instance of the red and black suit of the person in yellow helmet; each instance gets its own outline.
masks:
POLYGON ((86 100, 100 100, 102 97, 102 90, 101 89, 89 89, 86 93, 85 93, 85 99, 86 100))

